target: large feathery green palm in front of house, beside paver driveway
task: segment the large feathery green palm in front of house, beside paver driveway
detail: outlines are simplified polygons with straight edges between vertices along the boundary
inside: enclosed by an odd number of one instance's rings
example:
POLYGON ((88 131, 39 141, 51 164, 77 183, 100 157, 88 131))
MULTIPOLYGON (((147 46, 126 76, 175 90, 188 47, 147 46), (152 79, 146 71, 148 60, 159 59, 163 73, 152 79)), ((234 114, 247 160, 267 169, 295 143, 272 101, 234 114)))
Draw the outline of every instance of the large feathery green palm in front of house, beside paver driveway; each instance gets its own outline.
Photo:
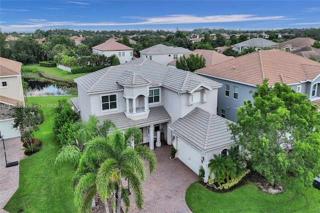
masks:
MULTIPOLYGON (((74 191, 75 204, 81 211, 88 210, 88 199, 91 199, 93 191, 96 190, 104 202, 106 198, 113 195, 113 212, 115 212, 115 206, 116 212, 120 212, 121 200, 127 212, 130 205, 129 192, 122 186, 123 178, 128 180, 137 208, 142 210, 141 181, 145 180, 143 160, 148 162, 150 173, 153 173, 156 157, 151 149, 140 145, 141 141, 141 130, 133 126, 125 132, 116 129, 107 137, 95 137, 87 143, 79 166, 86 164, 86 168, 90 171, 77 177, 78 182, 74 191), (132 148, 132 142, 136 142, 134 148, 132 148), (96 165, 98 168, 95 172, 96 165)), ((81 173, 80 170, 79 173, 81 173)))

